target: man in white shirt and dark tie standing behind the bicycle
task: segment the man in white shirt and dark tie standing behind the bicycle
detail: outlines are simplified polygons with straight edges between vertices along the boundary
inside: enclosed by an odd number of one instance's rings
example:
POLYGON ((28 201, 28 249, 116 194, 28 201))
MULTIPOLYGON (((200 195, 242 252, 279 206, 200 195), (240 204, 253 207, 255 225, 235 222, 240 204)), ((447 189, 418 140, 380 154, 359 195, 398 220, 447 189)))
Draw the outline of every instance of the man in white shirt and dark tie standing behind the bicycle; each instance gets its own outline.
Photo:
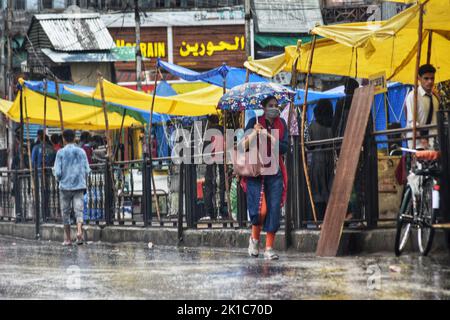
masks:
MULTIPOLYGON (((436 111, 439 107, 439 100, 433 95, 434 76, 436 69, 431 64, 424 64, 419 68, 419 86, 417 96, 417 118, 416 126, 436 124, 436 111)), ((414 112, 414 90, 406 97, 406 126, 412 128, 414 112)), ((419 130, 417 132, 416 149, 431 149, 434 139, 425 136, 436 134, 436 130, 419 130)), ((407 137, 412 138, 412 132, 408 132, 407 137)), ((413 147, 413 141, 408 140, 409 148, 413 147)))

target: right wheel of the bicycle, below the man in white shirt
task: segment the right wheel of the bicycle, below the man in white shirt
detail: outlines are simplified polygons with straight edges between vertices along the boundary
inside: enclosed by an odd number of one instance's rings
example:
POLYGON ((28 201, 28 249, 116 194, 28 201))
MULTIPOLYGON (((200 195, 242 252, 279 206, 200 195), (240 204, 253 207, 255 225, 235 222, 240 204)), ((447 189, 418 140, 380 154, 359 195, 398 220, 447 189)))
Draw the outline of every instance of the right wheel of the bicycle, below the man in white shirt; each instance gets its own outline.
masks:
POLYGON ((422 186, 420 206, 420 222, 417 229, 417 240, 420 253, 426 256, 431 250, 434 238, 433 224, 436 223, 436 210, 433 209, 433 179, 426 179, 422 186))

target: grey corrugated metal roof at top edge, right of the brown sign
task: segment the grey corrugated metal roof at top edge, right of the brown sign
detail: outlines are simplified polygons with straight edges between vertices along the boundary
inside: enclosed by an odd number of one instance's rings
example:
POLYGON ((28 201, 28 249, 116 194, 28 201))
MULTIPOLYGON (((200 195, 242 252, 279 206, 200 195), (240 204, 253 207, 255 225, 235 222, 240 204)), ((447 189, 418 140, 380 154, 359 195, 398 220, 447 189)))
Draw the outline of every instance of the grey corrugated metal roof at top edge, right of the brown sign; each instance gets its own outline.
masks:
POLYGON ((253 0, 252 9, 260 33, 308 33, 323 24, 319 0, 253 0))

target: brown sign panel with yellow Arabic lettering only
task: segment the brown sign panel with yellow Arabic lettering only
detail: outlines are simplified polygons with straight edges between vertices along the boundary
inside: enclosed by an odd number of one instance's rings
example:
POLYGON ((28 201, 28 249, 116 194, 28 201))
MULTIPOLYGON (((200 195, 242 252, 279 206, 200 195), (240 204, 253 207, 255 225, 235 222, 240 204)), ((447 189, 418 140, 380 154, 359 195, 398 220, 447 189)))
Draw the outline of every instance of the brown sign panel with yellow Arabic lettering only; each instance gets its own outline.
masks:
POLYGON ((226 63, 242 67, 246 60, 244 25, 174 27, 174 63, 211 69, 226 63))

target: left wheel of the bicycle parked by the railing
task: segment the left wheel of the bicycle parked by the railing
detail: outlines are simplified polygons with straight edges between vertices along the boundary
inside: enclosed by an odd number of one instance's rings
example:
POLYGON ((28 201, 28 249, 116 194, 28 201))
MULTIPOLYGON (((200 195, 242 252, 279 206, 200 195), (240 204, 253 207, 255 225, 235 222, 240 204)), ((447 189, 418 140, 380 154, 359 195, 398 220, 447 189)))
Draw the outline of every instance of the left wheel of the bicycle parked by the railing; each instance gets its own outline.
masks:
POLYGON ((412 217, 412 190, 407 186, 397 217, 397 232, 395 234, 395 255, 397 257, 402 254, 403 249, 405 249, 405 246, 408 243, 409 235, 411 233, 412 217))

